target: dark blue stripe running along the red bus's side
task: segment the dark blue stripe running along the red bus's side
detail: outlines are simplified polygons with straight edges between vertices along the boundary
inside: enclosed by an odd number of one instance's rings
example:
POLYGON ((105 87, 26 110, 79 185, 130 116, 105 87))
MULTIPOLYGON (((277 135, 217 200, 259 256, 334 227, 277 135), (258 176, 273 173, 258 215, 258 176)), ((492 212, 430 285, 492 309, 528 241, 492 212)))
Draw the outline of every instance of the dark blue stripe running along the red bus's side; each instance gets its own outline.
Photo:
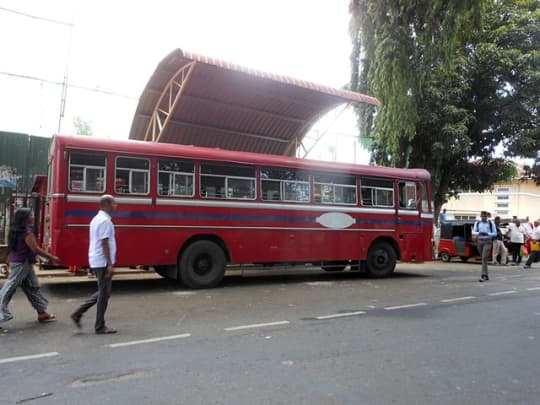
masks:
MULTIPOLYGON (((65 216, 76 218, 92 218, 96 214, 93 210, 67 210, 65 216)), ((210 214, 189 212, 140 212, 120 211, 113 214, 114 218, 122 219, 190 219, 190 220, 222 220, 222 221, 258 221, 258 222, 304 222, 315 223, 317 217, 294 217, 279 215, 245 215, 245 214, 210 214)), ((396 225, 395 220, 376 218, 356 218, 358 225, 396 225)), ((405 220, 400 225, 431 226, 431 221, 405 220)))

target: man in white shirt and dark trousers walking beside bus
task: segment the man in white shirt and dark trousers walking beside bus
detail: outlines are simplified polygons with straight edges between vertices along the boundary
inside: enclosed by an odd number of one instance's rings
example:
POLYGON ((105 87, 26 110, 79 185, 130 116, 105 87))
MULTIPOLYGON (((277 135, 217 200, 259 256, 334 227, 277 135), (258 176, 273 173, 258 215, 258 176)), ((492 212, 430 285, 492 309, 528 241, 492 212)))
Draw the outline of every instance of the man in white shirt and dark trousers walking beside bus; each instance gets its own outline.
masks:
POLYGON ((83 314, 97 304, 95 332, 110 334, 116 333, 115 329, 105 325, 105 311, 111 294, 116 262, 116 239, 111 219, 111 214, 116 210, 114 197, 108 194, 103 195, 99 200, 99 207, 99 212, 90 222, 88 247, 88 261, 90 269, 96 276, 98 290, 71 314, 71 319, 78 328, 81 328, 83 314))

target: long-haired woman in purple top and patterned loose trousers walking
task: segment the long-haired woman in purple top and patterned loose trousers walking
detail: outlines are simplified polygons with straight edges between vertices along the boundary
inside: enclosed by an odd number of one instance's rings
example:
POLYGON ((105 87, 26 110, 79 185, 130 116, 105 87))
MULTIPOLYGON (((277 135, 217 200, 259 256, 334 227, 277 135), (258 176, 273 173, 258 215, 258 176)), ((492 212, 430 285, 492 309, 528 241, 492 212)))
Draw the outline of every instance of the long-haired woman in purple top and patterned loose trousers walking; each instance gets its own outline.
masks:
MULTIPOLYGON (((29 208, 19 208, 13 216, 9 228, 9 276, 0 290, 0 322, 13 319, 8 305, 18 287, 37 312, 37 320, 42 323, 56 321, 56 316, 47 312, 47 299, 41 294, 39 281, 34 271, 36 256, 40 255, 52 261, 59 258, 41 249, 36 241, 32 227, 34 215, 29 208)), ((0 328, 1 329, 1 328, 0 328)))

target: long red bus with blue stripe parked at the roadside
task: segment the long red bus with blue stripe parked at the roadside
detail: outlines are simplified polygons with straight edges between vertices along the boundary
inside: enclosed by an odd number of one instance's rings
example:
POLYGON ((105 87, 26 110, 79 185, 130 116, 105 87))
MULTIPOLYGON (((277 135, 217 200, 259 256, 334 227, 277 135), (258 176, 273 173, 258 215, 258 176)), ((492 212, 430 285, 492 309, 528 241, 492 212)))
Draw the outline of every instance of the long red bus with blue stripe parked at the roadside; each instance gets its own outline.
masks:
POLYGON ((87 266, 88 224, 115 196, 118 266, 192 288, 228 264, 346 265, 390 275, 432 258, 429 173, 194 146, 55 136, 44 244, 87 266))

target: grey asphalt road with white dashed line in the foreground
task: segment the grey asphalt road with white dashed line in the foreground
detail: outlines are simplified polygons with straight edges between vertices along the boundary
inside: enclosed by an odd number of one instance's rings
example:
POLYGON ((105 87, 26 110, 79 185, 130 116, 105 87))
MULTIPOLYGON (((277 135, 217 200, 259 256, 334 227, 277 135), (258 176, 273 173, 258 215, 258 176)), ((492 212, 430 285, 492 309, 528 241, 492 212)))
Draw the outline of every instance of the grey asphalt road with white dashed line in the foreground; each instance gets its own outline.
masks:
POLYGON ((540 267, 399 265, 394 277, 249 272, 190 291, 114 281, 117 335, 69 314, 94 290, 42 279, 0 334, 0 404, 539 404, 540 267), (32 357, 34 356, 34 357, 32 357))

